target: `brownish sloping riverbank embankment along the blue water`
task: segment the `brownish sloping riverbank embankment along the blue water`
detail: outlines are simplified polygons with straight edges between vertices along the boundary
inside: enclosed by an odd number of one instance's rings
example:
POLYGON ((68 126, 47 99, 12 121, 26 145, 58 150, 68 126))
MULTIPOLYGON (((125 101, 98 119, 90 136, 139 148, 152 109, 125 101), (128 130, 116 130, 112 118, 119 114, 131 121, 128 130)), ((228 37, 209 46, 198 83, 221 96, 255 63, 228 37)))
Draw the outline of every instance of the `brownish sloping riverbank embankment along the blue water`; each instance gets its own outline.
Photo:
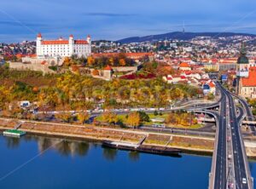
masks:
MULTIPOLYGON (((154 133, 132 129, 110 129, 94 126, 74 125, 67 123, 43 123, 28 120, 21 120, 23 123, 20 130, 26 133, 38 135, 61 136, 63 138, 78 138, 84 140, 110 140, 122 141, 131 144, 138 144, 145 136, 143 146, 163 146, 172 147, 182 152, 195 154, 212 155, 214 138, 191 135, 173 135, 164 133, 154 133)), ((0 118, 0 129, 14 129, 17 120, 0 118)), ((256 151, 247 147, 247 156, 256 157, 256 151)))

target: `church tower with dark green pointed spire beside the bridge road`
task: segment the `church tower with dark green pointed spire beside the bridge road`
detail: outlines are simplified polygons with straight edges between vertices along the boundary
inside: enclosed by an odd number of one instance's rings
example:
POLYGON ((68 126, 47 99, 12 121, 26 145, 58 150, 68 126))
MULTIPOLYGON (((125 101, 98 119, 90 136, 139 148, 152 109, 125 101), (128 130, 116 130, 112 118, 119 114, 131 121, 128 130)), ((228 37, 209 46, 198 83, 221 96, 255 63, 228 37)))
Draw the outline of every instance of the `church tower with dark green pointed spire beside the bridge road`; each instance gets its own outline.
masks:
POLYGON ((241 51, 236 64, 236 94, 241 94, 241 78, 249 77, 249 60, 245 43, 241 43, 241 51))

